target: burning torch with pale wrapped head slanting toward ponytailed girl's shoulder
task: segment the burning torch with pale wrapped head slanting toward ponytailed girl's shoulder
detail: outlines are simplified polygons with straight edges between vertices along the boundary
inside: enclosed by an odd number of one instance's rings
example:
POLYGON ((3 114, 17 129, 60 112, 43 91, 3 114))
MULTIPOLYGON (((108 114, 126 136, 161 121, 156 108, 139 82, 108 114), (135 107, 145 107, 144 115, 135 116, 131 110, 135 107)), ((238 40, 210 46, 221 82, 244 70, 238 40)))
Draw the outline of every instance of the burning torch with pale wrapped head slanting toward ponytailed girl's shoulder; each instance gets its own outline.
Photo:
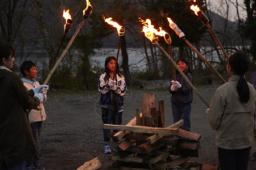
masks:
POLYGON ((207 63, 207 65, 210 67, 210 69, 212 69, 213 72, 214 72, 215 74, 217 74, 217 76, 221 79, 221 81, 222 81, 223 83, 226 83, 226 81, 222 78, 222 76, 218 73, 218 71, 215 70, 214 67, 207 61, 207 59, 205 59, 205 58, 201 55, 201 53, 199 53, 199 51, 197 51, 197 49, 185 38, 185 34, 180 30, 179 27, 177 27, 177 25, 176 25, 174 22, 172 22, 171 18, 167 18, 167 19, 168 19, 168 22, 170 23, 170 27, 171 27, 172 29, 174 29, 174 32, 176 33, 176 35, 179 36, 181 39, 183 39, 183 40, 188 44, 188 46, 190 46, 190 47, 192 48, 192 50, 193 50, 194 52, 196 52, 196 54, 197 54, 201 59, 203 59, 203 61, 204 61, 205 63, 207 63))

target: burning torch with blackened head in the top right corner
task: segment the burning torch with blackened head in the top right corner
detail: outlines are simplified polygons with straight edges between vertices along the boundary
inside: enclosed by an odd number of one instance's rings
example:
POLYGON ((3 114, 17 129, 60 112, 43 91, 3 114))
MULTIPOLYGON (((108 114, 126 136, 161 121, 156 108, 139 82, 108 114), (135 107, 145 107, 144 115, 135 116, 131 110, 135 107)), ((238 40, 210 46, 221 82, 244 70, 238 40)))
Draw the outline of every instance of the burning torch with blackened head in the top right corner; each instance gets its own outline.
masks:
POLYGON ((210 27, 209 25, 209 19, 204 15, 204 12, 200 10, 200 8, 196 5, 191 5, 190 6, 191 10, 193 10, 195 12, 195 14, 199 17, 199 19, 201 20, 202 23, 204 23, 205 25, 207 25, 207 27, 209 28, 210 32, 212 33, 214 39, 216 40, 218 46, 220 46, 222 52, 224 53, 224 56, 226 57, 226 59, 229 59, 228 54, 226 53, 226 51, 224 50, 223 46, 221 45, 220 40, 218 40, 216 34, 213 32, 212 27, 210 27))

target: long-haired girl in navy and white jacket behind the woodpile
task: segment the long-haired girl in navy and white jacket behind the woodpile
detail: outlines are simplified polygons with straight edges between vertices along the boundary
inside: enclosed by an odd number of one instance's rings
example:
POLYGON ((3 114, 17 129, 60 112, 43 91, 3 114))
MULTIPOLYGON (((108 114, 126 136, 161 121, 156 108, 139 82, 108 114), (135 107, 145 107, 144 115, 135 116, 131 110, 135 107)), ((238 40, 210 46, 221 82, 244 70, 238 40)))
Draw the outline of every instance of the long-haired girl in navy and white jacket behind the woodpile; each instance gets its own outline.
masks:
MULTIPOLYGON (((98 90, 101 92, 100 105, 103 124, 121 125, 123 113, 123 95, 125 95, 126 84, 125 78, 119 73, 118 63, 117 73, 115 75, 115 79, 113 79, 115 63, 115 57, 106 58, 105 73, 101 74, 100 78, 98 79, 98 90)), ((109 146, 110 138, 108 137, 109 132, 110 129, 103 129, 105 154, 111 153, 109 146)))

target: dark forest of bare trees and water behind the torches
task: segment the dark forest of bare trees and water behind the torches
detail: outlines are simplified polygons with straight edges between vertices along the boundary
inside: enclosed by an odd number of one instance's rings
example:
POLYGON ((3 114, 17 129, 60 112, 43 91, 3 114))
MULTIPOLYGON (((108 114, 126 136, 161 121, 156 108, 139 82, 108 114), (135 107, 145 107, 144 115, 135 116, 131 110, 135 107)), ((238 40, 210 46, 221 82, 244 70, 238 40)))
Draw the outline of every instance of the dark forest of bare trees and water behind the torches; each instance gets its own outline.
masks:
MULTIPOLYGON (((151 19, 155 28, 162 27, 172 39, 174 60, 187 58, 192 67, 195 84, 204 84, 206 78, 216 78, 208 65, 170 28, 171 18, 185 33, 186 39, 227 78, 227 59, 186 0, 91 0, 92 14, 85 21, 64 59, 52 75, 51 88, 61 90, 96 90, 100 74, 104 73, 105 57, 116 57, 118 34, 115 28, 104 22, 112 17, 125 27, 121 39, 119 67, 129 87, 141 88, 144 80, 171 79, 171 62, 142 33, 143 20, 151 19), (131 57, 132 55, 132 57, 131 57), (97 57, 101 56, 97 59, 97 57), (103 56, 103 57, 102 57, 103 56), (136 59, 136 62, 133 60, 136 59)), ((256 59, 256 2, 255 0, 224 0, 196 2, 209 19, 226 53, 241 50, 251 59, 250 72, 255 71, 256 59)), ((1 0, 0 40, 15 46, 15 66, 34 61, 42 84, 52 66, 53 58, 64 35, 63 10, 70 10, 73 23, 67 33, 60 54, 82 22, 85 0, 1 0)), ((159 44, 168 52, 163 37, 159 44)), ((59 55, 60 56, 60 55, 59 55)), ((58 57, 59 57, 58 56, 58 57)))

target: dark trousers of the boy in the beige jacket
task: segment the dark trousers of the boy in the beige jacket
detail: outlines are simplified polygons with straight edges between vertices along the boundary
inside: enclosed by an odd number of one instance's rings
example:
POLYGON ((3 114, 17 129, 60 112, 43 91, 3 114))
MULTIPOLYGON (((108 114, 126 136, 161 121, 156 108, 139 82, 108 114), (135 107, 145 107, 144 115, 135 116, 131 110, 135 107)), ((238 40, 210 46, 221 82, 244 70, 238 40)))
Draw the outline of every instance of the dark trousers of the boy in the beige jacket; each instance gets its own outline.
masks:
MULTIPOLYGON (((39 140, 40 140, 40 137, 41 137, 42 123, 43 123, 43 121, 34 122, 34 123, 30 124, 31 129, 32 129, 32 133, 33 133, 33 136, 34 136, 34 139, 35 139, 36 148, 38 150, 39 150, 39 140)), ((32 159, 28 160, 26 166, 28 166, 32 163, 34 165, 40 164, 39 155, 34 156, 32 159)))

